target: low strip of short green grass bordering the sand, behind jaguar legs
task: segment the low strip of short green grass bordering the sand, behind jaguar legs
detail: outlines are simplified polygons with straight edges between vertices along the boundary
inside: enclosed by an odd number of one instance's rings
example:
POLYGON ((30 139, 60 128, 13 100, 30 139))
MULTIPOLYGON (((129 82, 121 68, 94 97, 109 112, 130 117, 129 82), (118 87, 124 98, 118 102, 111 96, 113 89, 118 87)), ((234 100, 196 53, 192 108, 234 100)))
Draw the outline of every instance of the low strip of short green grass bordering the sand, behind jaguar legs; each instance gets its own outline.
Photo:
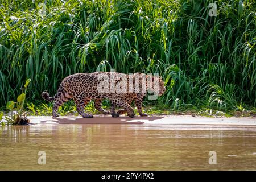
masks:
MULTIPOLYGON (((109 102, 104 101, 104 106, 102 106, 105 110, 109 110, 109 102)), ((28 109, 27 113, 28 115, 52 115, 52 107, 53 104, 38 104, 34 105, 33 103, 27 104, 28 109)), ((135 105, 132 104, 132 106, 135 108, 135 105)), ((239 107, 239 106, 237 106, 239 107)), ((118 108, 116 109, 116 111, 118 108)), ((171 108, 168 105, 150 105, 148 103, 143 104, 142 108, 144 113, 147 113, 148 115, 192 115, 192 116, 205 116, 205 117, 255 117, 256 116, 256 108, 251 107, 250 110, 247 110, 243 107, 240 107, 240 109, 236 110, 229 110, 229 111, 221 111, 221 110, 215 110, 215 109, 209 109, 206 107, 197 107, 193 105, 184 105, 179 107, 179 109, 171 108)), ((90 102, 85 107, 86 113, 89 114, 101 114, 94 108, 93 101, 90 102)), ((137 112, 137 109, 134 109, 135 114, 139 115, 137 112)), ((59 108, 60 115, 79 115, 76 111, 76 107, 73 101, 67 102, 67 104, 63 105, 59 108)))

